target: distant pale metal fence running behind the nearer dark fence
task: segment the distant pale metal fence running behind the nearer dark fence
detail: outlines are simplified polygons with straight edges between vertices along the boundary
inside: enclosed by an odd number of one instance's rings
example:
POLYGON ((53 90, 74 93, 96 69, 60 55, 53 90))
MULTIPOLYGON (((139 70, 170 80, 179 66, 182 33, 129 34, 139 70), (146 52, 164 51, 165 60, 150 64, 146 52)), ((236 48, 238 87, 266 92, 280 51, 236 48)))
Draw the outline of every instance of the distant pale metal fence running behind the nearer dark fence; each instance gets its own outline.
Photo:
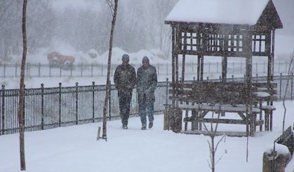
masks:
MULTIPOLYGON (((288 73, 289 62, 275 62, 274 73, 288 73)), ((141 64, 132 64, 136 69, 141 64)), ((170 76, 171 64, 152 64, 156 66, 158 76, 170 76)), ((117 64, 112 64, 111 75, 114 74, 114 69, 117 64)), ((182 68, 182 64, 179 64, 179 69, 182 68)), ((107 64, 74 64, 70 68, 53 67, 50 64, 32 64, 27 63, 25 67, 25 75, 32 78, 44 78, 44 77, 105 77, 107 75, 107 64)), ((20 64, 1 64, 0 63, 0 78, 18 78, 20 76, 20 64)), ((196 63, 185 64, 185 74, 194 75, 197 71, 196 63)), ((237 76, 238 74, 243 76, 245 74, 245 63, 243 62, 228 62, 227 63, 227 75, 237 76)), ((253 63, 253 75, 259 74, 260 76, 267 75, 267 63, 266 62, 254 62, 253 63)), ((206 62, 204 63, 204 75, 208 73, 215 76, 222 74, 222 63, 219 62, 206 62)))

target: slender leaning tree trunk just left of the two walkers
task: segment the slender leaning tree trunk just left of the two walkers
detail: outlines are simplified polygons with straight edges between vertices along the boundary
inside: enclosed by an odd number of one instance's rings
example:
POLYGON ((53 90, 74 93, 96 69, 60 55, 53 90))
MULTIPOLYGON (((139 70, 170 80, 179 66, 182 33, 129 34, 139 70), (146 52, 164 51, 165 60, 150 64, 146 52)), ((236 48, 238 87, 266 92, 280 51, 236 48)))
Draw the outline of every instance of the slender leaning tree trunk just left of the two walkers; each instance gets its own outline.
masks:
POLYGON ((110 68, 111 68, 111 64, 112 64, 112 41, 113 41, 113 34, 114 34, 114 26, 115 26, 115 21, 116 21, 118 1, 119 0, 114 0, 114 8, 112 8, 112 3, 111 3, 111 5, 109 5, 113 10, 113 15, 112 15, 112 29, 110 31, 109 54, 108 54, 108 62, 107 62, 106 96, 105 96, 104 107, 103 107, 102 139, 105 139, 105 141, 107 141, 107 106, 108 106, 109 91, 110 91, 110 70, 111 70, 110 68))

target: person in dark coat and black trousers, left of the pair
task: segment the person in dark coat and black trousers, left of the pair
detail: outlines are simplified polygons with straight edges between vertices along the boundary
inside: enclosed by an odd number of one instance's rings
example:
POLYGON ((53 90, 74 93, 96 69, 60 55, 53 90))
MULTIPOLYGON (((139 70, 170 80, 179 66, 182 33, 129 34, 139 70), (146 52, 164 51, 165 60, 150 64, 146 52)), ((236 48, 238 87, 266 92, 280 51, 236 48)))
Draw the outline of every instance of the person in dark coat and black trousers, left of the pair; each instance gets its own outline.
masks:
POLYGON ((122 64, 116 67, 114 72, 114 86, 119 95, 119 112, 123 129, 128 129, 128 117, 130 115, 130 106, 133 88, 136 83, 135 68, 128 64, 130 57, 122 56, 122 64))

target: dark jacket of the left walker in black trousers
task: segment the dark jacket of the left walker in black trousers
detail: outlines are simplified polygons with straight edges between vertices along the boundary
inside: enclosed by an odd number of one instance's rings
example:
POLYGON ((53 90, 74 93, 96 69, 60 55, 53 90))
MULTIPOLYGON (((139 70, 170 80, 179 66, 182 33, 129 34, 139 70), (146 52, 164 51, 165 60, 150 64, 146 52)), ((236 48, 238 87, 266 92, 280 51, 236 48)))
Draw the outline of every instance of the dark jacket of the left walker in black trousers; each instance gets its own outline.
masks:
POLYGON ((116 67, 114 72, 114 86, 119 92, 132 95, 136 83, 135 68, 131 64, 121 64, 116 67))

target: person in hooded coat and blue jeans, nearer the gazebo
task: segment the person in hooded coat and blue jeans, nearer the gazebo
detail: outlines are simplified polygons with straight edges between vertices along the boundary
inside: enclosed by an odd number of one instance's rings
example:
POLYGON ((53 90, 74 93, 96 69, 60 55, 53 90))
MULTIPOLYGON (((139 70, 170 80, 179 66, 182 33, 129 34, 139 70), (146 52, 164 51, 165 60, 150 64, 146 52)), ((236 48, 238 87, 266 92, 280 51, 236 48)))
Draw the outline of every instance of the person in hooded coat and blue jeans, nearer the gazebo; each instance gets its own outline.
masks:
POLYGON ((153 127, 153 111, 155 102, 155 89, 157 86, 156 68, 149 64, 148 57, 143 57, 142 66, 137 71, 137 92, 139 103, 139 114, 142 128, 146 129, 148 115, 149 129, 153 127))

